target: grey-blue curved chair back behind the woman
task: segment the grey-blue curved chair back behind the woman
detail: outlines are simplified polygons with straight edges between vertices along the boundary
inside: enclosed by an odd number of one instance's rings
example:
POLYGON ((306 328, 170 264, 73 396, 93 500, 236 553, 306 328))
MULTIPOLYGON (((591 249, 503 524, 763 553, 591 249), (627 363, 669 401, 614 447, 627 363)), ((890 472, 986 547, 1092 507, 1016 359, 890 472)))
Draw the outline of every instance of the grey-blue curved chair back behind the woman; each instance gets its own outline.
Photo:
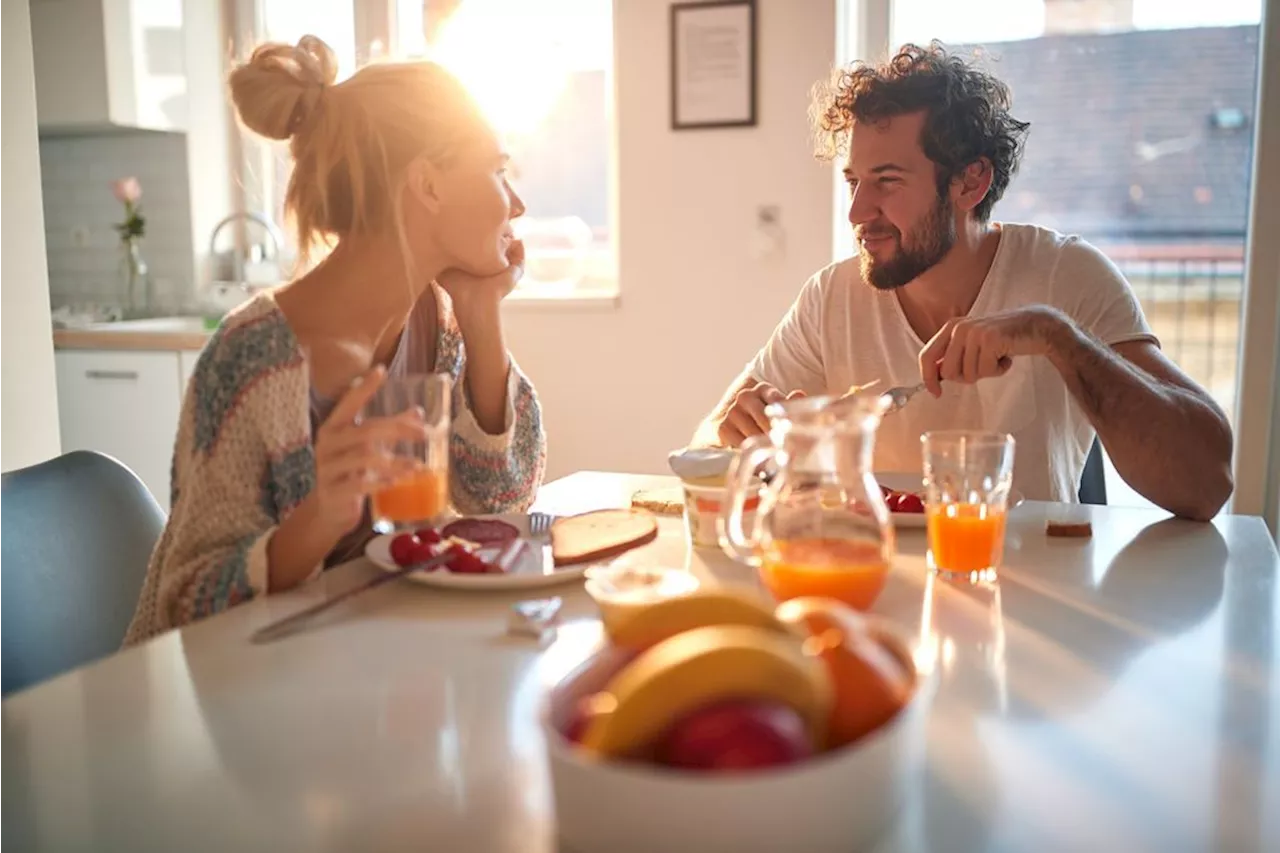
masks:
POLYGON ((164 523, 101 453, 0 474, 0 695, 119 649, 164 523))

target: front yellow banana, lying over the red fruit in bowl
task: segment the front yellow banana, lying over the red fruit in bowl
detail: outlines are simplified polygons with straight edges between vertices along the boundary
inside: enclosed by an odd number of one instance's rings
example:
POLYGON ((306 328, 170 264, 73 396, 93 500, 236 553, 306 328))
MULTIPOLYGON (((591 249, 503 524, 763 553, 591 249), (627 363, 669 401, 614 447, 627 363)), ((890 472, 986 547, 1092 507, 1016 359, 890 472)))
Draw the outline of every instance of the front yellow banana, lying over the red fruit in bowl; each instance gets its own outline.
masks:
POLYGON ((827 666, 790 634, 695 628, 641 652, 613 676, 593 701, 581 744, 604 758, 635 754, 686 713, 724 699, 760 698, 795 708, 820 749, 833 692, 827 666))

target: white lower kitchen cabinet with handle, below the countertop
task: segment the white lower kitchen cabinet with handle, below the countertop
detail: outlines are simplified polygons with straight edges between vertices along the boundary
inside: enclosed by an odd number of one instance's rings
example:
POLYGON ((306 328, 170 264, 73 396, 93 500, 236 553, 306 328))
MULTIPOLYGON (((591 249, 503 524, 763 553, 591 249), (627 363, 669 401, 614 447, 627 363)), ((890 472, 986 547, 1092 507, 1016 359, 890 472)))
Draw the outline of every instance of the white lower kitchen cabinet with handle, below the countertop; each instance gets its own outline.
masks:
POLYGON ((136 473, 169 508, 169 466, 184 387, 173 351, 59 350, 58 410, 63 452, 95 450, 136 473))

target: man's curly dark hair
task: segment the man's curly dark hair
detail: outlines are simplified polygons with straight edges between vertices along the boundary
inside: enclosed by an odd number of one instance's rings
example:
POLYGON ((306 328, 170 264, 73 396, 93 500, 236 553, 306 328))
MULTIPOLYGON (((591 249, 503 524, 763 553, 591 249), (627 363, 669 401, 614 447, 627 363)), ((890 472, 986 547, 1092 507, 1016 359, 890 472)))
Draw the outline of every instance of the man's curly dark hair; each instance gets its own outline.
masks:
POLYGON ((987 222, 1018 170, 1029 122, 1009 114, 1009 87, 941 42, 905 45, 882 65, 855 63, 814 90, 817 155, 822 160, 849 150, 854 122, 879 122, 925 110, 920 145, 937 165, 938 195, 969 164, 991 163, 991 191, 974 216, 987 222))

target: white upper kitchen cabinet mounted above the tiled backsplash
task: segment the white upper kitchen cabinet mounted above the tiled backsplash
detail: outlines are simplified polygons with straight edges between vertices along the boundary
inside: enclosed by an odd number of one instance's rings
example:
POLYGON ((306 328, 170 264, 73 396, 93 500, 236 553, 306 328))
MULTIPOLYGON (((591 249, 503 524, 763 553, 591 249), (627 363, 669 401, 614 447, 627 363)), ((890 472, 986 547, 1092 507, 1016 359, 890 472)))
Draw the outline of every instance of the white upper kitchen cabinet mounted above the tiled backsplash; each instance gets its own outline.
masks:
POLYGON ((187 129, 183 0, 29 3, 41 133, 187 129))

